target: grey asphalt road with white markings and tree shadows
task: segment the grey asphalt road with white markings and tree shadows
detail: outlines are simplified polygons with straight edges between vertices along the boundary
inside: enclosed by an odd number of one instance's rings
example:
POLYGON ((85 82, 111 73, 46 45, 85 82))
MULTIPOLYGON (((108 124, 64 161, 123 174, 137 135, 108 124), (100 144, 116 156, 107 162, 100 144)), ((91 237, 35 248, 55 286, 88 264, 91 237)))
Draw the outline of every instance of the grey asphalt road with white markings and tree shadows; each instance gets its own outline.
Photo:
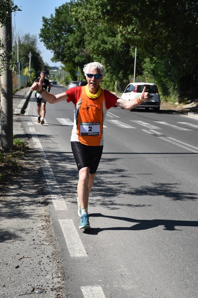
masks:
POLYGON ((198 119, 111 108, 86 231, 78 229, 72 122, 73 104, 61 102, 47 103, 38 124, 34 95, 23 122, 43 154, 68 297, 198 297, 198 119))

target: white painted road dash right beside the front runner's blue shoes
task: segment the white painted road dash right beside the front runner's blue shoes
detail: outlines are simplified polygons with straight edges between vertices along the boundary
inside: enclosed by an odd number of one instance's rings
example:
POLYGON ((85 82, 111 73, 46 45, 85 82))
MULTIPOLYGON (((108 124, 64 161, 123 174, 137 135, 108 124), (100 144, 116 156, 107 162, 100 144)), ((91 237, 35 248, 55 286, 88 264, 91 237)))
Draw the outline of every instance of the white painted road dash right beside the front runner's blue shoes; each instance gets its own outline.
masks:
POLYGON ((71 257, 87 257, 86 250, 72 220, 58 220, 71 257))

